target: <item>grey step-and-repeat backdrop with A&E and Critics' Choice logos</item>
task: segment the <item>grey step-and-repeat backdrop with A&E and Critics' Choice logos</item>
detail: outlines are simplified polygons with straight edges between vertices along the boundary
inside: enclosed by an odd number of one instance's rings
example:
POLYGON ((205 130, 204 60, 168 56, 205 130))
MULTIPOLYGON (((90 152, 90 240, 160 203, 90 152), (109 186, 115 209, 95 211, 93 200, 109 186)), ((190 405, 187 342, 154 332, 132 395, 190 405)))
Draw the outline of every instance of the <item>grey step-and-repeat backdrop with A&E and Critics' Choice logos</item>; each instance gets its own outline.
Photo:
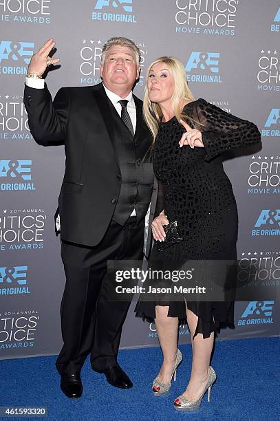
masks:
MULTIPOLYGON (((263 148, 224 162, 239 208, 239 281, 249 277, 262 301, 235 304, 235 330, 218 340, 278 336, 280 305, 267 289, 280 279, 279 0, 0 0, 0 358, 58 354, 65 284, 54 212, 64 171, 63 147, 39 147, 28 127, 23 84, 34 52, 53 37, 62 86, 100 82, 103 43, 127 36, 147 65, 180 58, 196 98, 255 122, 263 148)), ((122 347, 158 344, 153 323, 133 314, 122 347)), ((180 341, 190 342, 187 326, 180 341)))

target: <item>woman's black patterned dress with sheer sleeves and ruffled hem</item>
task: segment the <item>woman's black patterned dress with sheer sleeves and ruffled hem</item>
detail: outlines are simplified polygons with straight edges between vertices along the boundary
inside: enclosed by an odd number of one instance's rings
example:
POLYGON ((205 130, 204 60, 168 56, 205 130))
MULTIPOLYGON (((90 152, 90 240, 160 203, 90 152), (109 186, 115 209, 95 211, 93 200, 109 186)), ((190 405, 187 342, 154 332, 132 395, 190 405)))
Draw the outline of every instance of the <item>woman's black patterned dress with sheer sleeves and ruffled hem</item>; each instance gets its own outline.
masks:
MULTIPOLYGON (((169 222, 177 220, 183 241, 161 250, 155 241, 150 261, 189 259, 234 260, 237 242, 237 206, 230 180, 222 166, 221 154, 231 149, 261 142, 257 127, 202 98, 184 107, 202 131, 204 148, 179 147, 185 129, 171 118, 162 122, 153 149, 153 170, 159 182, 155 216, 164 209, 169 222)), ((192 125, 188 121, 189 125, 192 125)), ((233 327, 234 301, 188 301, 189 310, 198 316, 195 334, 204 338, 226 325, 233 327)), ((136 315, 155 319, 155 305, 169 305, 169 316, 186 319, 182 301, 143 301, 136 315)))

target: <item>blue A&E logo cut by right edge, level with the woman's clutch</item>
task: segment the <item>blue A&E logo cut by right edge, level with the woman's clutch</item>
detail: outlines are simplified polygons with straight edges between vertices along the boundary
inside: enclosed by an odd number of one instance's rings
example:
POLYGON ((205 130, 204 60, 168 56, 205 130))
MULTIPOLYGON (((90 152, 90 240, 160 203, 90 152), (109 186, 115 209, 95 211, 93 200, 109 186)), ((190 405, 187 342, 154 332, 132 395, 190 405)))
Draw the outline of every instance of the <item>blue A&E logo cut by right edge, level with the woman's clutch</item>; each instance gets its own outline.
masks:
POLYGON ((261 210, 252 229, 253 237, 271 235, 280 235, 280 209, 261 210))

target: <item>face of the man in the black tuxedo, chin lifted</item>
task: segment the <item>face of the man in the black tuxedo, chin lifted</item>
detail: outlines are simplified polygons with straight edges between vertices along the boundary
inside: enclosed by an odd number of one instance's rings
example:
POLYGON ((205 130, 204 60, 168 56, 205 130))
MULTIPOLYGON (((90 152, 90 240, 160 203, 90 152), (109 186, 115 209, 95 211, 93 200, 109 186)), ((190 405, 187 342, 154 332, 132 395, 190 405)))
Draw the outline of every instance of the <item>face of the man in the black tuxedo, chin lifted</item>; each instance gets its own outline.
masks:
POLYGON ((129 47, 112 45, 106 53, 103 65, 100 65, 100 76, 110 91, 124 88, 128 91, 138 79, 140 67, 136 65, 136 56, 129 47))

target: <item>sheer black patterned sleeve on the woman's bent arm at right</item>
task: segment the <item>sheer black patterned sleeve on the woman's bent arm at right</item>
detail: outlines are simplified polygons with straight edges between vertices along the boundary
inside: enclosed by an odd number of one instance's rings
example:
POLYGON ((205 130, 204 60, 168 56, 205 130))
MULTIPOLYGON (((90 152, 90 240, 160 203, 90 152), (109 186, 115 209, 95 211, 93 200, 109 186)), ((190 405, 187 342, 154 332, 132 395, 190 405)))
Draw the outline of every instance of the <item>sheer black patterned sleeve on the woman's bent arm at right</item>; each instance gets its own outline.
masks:
POLYGON ((231 149, 261 145, 261 133, 254 123, 233 116, 202 98, 197 100, 196 111, 202 123, 206 161, 231 149))

